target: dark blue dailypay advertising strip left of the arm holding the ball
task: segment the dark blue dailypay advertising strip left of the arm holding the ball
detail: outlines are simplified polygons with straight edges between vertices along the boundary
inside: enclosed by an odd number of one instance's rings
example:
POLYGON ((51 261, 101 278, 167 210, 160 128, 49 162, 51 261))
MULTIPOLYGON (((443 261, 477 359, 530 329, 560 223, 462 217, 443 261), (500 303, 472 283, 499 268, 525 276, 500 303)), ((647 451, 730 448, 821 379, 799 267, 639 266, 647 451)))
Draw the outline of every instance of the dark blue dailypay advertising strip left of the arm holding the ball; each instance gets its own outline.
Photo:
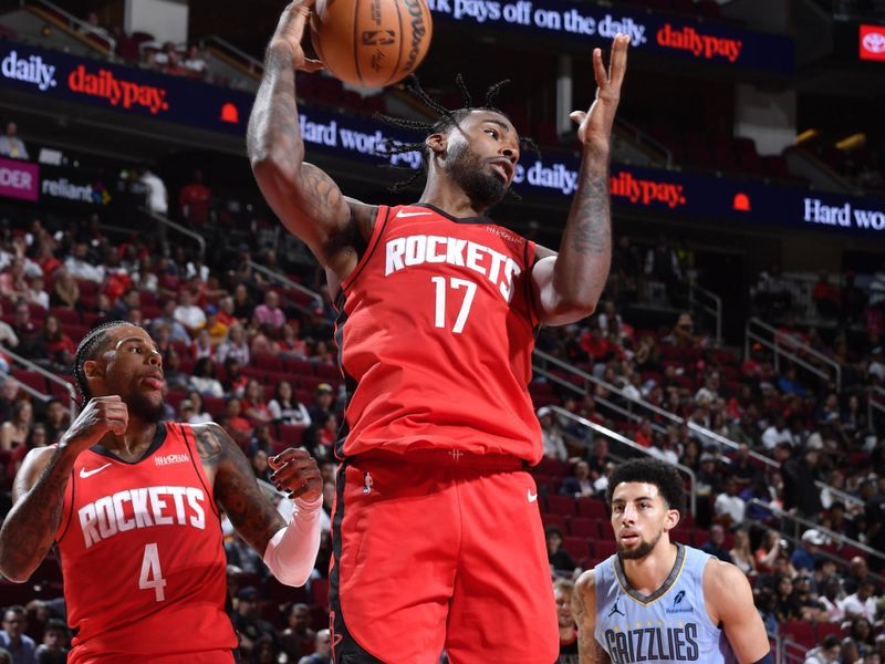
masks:
POLYGON ((0 41, 0 86, 46 103, 67 100, 239 135, 254 101, 236 90, 10 41, 0 41))

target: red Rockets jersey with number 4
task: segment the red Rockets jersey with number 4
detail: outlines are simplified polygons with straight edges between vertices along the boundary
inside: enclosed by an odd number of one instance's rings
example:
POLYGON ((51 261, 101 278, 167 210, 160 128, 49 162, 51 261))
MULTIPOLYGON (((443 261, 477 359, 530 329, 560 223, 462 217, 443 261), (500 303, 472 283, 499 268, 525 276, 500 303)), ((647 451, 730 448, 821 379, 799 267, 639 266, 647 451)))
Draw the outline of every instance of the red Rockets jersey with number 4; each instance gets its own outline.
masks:
POLYGON ((134 464, 83 452, 55 540, 69 662, 232 662, 221 523, 189 426, 162 424, 134 464))

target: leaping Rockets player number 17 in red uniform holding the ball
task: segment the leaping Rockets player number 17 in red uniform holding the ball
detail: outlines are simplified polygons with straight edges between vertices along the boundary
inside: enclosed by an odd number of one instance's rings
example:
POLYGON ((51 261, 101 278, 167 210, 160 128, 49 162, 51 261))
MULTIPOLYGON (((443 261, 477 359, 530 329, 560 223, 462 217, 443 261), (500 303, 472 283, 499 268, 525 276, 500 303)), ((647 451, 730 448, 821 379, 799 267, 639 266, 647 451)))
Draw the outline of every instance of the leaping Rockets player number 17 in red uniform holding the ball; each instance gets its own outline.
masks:
MULTIPOLYGON (((591 314, 611 262, 608 156, 628 38, 575 112, 583 160, 553 252, 498 226, 521 141, 491 107, 437 113, 427 184, 396 207, 345 198, 304 162, 295 70, 313 0, 282 13, 248 132, 252 169, 337 293, 348 398, 336 446, 330 605, 336 662, 550 663, 559 632, 538 491, 533 333, 591 314)), ((466 95, 467 96, 467 95, 466 95)), ((413 128, 419 123, 410 122, 413 128)))

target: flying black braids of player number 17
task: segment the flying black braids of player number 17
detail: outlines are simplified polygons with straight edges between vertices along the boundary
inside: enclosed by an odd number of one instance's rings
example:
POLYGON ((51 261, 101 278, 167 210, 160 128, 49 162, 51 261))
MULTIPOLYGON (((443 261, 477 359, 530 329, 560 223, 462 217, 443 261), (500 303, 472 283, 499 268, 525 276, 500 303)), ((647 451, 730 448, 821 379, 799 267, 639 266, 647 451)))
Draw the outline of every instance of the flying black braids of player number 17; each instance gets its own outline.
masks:
MULTIPOLYGON (((402 129, 424 132, 427 136, 430 134, 445 134, 451 127, 460 127, 459 123, 475 111, 493 111, 494 113, 503 115, 510 120, 507 113, 494 106, 496 97, 501 92, 501 89, 510 83, 509 79, 499 81, 486 91, 485 106, 473 106, 473 97, 470 95, 470 91, 467 89, 467 84, 465 83, 461 74, 458 74, 455 77, 455 83, 458 85, 458 90, 461 93, 462 106, 460 108, 450 110, 446 108, 442 104, 435 101, 429 94, 427 94, 427 92, 425 92, 420 85, 420 82, 418 81, 418 76, 412 74, 408 79, 406 79, 406 91, 437 114, 438 118, 433 124, 423 122, 420 120, 394 117, 392 115, 385 115, 384 113, 375 113, 373 114, 373 117, 402 129)), ((535 153, 539 157, 541 156, 538 144, 531 138, 520 137, 520 143, 523 144, 529 151, 535 153)), ((427 165, 430 160, 430 148, 427 147, 427 144, 424 141, 420 143, 394 143, 392 139, 388 139, 384 146, 384 153, 386 156, 396 156, 415 152, 420 153, 421 155, 420 168, 418 168, 408 179, 392 185, 389 187, 392 193, 397 194, 403 191, 404 189, 407 189, 414 185, 423 176, 427 175, 427 165)), ((412 170, 412 168, 408 166, 391 166, 391 168, 396 168, 398 170, 412 170)), ((517 200, 521 200, 519 194, 512 189, 508 189, 508 195, 512 196, 517 200)))

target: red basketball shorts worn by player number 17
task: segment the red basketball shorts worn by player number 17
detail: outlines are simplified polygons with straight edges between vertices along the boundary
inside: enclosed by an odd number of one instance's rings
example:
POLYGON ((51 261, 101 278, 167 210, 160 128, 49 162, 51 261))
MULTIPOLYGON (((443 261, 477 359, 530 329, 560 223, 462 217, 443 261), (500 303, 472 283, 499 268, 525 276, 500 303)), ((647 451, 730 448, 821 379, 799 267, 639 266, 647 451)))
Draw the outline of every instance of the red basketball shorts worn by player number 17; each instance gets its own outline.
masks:
POLYGON ((336 664, 550 664, 559 630, 538 489, 513 457, 342 463, 330 573, 336 664))

